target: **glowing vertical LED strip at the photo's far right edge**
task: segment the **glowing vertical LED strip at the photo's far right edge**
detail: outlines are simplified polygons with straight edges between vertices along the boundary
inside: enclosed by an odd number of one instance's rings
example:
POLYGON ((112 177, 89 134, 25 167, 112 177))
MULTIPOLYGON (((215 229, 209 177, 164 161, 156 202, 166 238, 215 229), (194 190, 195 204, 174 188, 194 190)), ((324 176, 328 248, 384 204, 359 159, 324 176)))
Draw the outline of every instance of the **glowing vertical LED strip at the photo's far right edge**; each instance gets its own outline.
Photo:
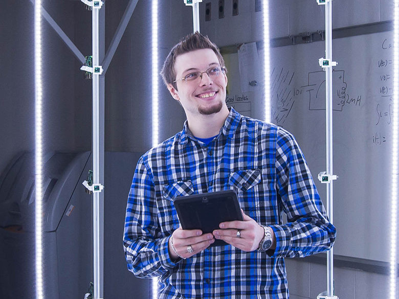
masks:
POLYGON ((394 0, 393 18, 393 118, 392 118, 392 202, 389 298, 396 299, 397 279, 397 179, 398 179, 398 100, 399 100, 399 0, 394 0))

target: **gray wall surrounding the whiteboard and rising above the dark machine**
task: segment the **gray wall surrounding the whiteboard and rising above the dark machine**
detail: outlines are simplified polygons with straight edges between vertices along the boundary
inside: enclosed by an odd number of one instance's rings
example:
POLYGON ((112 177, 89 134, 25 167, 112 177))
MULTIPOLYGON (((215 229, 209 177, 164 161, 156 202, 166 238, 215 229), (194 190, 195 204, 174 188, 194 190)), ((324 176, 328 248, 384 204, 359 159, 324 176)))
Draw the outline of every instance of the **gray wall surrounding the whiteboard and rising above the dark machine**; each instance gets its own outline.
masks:
MULTIPOLYGON (((127 0, 105 5, 105 49, 115 33, 127 0)), ((144 152, 151 146, 150 1, 139 1, 109 66, 105 83, 105 149, 144 152)), ((171 46, 192 31, 191 8, 181 0, 160 5, 160 66, 171 46)), ((79 1, 43 4, 83 55, 91 54, 91 17, 79 1)), ((261 13, 255 0, 241 0, 239 15, 217 18, 217 1, 200 5, 201 30, 219 47, 262 40, 261 13), (204 21, 205 4, 212 19, 204 21)), ((347 27, 392 19, 392 0, 333 2, 333 27, 347 27)), ((0 171, 19 151, 34 149, 33 5, 3 0, 0 9, 0 171)), ((273 38, 324 29, 324 13, 314 0, 271 1, 273 38)), ((45 150, 81 151, 91 148, 91 81, 83 79, 80 62, 43 22, 45 84, 45 150)), ((182 108, 160 85, 160 140, 181 130, 182 108), (173 116, 173 117, 171 117, 173 116)), ((121 198, 125 201, 126 198, 121 198)), ((376 245, 379 246, 379 245, 376 245)), ((121 269, 125 271, 126 269, 121 269)), ((315 298, 326 289, 326 270, 304 260, 287 260, 292 298, 315 298)), ((337 268, 336 294, 341 298, 387 297, 388 277, 350 268, 337 268)))

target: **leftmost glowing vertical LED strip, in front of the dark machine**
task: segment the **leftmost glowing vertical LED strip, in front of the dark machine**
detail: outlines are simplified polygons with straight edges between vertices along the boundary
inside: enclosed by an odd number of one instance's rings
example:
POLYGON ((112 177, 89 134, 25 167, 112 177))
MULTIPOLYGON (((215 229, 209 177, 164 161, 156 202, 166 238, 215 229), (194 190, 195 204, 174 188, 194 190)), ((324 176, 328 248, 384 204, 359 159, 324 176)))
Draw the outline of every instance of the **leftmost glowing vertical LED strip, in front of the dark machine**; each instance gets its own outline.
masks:
POLYGON ((36 299, 43 299, 43 214, 42 214, 42 80, 41 80, 41 0, 35 1, 35 279, 36 299))

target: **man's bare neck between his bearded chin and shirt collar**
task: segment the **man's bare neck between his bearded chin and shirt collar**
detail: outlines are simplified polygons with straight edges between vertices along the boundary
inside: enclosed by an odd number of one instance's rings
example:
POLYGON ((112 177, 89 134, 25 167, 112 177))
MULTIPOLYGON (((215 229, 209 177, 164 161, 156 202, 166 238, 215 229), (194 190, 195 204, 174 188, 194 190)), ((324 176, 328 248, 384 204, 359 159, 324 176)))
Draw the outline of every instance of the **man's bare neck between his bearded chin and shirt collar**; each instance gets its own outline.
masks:
POLYGON ((216 136, 221 127, 225 124, 229 113, 229 109, 226 104, 224 104, 221 110, 217 113, 210 115, 187 115, 188 127, 190 128, 191 133, 198 138, 210 138, 216 136))

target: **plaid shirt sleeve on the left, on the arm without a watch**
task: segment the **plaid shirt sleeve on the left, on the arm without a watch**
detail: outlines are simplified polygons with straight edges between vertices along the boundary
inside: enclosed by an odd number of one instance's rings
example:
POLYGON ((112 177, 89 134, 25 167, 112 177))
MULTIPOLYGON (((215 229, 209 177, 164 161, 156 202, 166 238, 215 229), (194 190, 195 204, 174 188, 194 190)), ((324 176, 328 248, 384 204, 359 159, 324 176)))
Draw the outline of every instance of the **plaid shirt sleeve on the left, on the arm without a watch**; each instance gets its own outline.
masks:
POLYGON ((160 234, 154 181, 141 157, 130 187, 123 235, 129 271, 151 278, 175 267, 169 257, 169 238, 160 234))

